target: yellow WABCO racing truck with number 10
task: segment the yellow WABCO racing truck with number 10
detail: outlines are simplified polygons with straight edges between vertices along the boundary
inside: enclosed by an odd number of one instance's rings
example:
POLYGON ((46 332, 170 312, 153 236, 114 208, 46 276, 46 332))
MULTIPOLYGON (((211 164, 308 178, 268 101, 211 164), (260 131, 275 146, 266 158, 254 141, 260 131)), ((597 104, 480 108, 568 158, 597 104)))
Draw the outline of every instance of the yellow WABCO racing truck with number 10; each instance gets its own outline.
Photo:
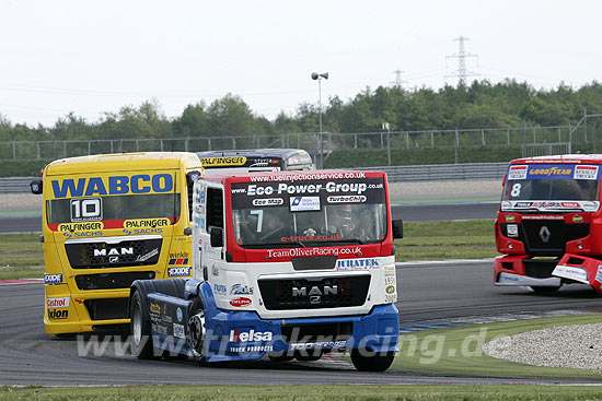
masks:
POLYGON ((192 188, 204 174, 185 152, 62 158, 32 181, 43 193, 49 334, 129 325, 136 280, 192 276, 192 188))

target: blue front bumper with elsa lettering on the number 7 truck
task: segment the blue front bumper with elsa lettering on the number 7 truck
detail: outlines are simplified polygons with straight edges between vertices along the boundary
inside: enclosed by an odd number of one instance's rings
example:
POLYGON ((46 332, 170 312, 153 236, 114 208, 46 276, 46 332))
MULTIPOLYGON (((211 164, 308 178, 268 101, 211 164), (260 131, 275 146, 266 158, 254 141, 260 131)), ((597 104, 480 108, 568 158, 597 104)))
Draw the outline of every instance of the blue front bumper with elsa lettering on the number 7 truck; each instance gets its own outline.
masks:
POLYGON ((378 305, 363 316, 278 320, 262 320, 253 311, 220 311, 208 320, 207 359, 256 359, 309 350, 396 352, 398 316, 393 304, 378 305))

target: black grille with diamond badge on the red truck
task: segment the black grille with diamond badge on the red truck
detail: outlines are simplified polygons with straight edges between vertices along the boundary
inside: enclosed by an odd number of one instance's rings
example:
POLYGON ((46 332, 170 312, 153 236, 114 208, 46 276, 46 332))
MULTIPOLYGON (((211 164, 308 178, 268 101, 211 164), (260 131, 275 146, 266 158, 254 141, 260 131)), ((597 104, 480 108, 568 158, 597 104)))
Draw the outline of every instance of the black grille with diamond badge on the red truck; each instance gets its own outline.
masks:
MULTIPOLYGON (((508 224, 502 224, 507 233, 508 224)), ((519 224, 519 237, 529 255, 560 255, 569 240, 589 235, 589 224, 567 224, 563 220, 523 220, 519 224)))

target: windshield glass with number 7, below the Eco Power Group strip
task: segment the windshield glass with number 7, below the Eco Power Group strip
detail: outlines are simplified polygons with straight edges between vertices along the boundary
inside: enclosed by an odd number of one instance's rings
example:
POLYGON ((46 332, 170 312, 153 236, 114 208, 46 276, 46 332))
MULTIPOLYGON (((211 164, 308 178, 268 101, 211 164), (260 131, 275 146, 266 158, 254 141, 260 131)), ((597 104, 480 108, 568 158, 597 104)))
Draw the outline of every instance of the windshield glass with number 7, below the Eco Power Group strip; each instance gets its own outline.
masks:
POLYGON ((243 247, 367 244, 386 235, 386 209, 379 204, 326 205, 290 212, 287 207, 233 211, 234 236, 243 247))

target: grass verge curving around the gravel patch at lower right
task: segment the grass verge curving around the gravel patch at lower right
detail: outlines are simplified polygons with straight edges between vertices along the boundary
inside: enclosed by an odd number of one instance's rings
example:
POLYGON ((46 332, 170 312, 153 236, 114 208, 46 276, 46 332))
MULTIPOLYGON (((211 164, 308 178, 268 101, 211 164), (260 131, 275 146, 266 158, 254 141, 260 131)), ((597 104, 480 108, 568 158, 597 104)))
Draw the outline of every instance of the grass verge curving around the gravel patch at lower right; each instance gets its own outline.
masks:
POLYGON ((482 346, 497 337, 557 326, 599 323, 602 314, 537 318, 418 331, 400 337, 395 370, 420 375, 602 380, 602 373, 522 365, 487 356, 482 346))

